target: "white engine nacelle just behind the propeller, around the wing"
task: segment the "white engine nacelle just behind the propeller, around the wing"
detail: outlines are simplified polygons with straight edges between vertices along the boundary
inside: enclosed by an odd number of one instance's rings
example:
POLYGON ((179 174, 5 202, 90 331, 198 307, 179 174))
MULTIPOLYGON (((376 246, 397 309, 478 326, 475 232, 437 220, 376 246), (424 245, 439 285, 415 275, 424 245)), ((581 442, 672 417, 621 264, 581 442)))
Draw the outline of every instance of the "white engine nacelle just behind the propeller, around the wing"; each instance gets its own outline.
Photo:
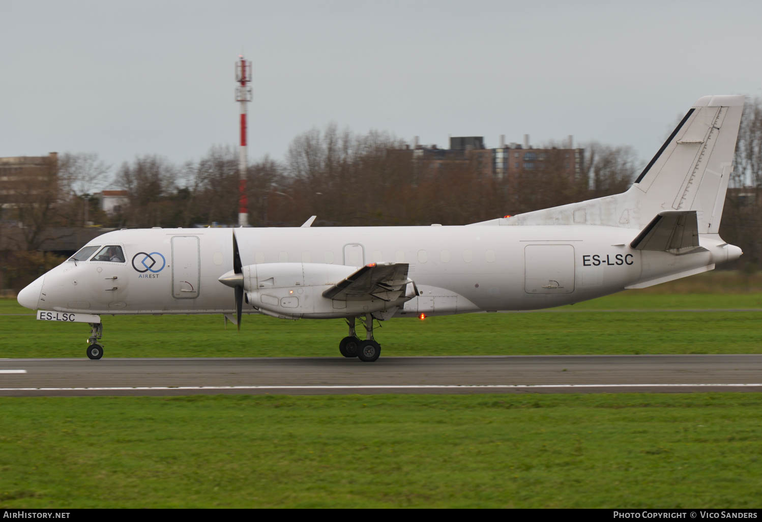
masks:
POLYGON ((328 299, 322 294, 357 267, 325 263, 260 263, 242 267, 244 290, 249 305, 282 319, 330 319, 354 317, 402 306, 415 296, 412 282, 392 301, 328 299))

